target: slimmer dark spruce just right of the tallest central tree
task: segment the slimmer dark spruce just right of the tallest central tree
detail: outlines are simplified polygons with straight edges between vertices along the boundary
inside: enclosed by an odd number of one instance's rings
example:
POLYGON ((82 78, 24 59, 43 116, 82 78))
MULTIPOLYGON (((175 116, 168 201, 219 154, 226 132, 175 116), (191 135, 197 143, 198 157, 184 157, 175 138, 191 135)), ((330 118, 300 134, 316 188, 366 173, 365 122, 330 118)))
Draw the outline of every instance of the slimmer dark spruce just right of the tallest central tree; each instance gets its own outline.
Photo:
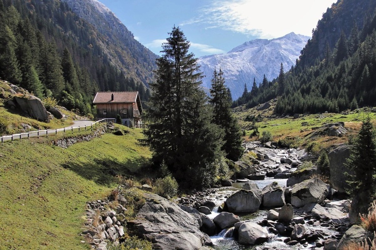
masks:
POLYGON ((222 150, 230 160, 237 161, 243 155, 242 132, 231 111, 231 99, 224 84, 223 72, 214 69, 209 102, 214 109, 213 121, 224 130, 222 150))

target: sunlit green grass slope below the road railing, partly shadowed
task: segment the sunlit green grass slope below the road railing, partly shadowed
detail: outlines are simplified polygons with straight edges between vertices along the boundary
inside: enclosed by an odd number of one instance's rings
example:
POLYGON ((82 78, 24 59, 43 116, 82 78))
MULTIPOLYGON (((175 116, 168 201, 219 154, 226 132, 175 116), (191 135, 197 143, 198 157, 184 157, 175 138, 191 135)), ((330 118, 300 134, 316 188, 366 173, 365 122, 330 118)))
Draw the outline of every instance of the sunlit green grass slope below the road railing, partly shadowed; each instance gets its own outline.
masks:
POLYGON ((115 173, 133 175, 150 159, 141 137, 130 129, 67 149, 52 137, 0 144, 0 249, 90 249, 79 236, 85 203, 108 195, 115 173))

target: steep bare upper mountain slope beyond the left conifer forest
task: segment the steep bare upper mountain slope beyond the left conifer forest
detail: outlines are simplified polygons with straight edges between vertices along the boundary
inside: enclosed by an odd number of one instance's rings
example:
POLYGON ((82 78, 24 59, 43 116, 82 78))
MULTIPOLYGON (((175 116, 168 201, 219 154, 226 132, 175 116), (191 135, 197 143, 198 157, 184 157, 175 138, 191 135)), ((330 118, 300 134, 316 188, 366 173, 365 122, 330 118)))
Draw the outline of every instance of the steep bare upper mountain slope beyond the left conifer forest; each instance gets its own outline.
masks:
POLYGON ((148 85, 156 69, 157 55, 134 39, 132 32, 110 9, 97 0, 62 1, 104 37, 100 46, 118 69, 148 85))

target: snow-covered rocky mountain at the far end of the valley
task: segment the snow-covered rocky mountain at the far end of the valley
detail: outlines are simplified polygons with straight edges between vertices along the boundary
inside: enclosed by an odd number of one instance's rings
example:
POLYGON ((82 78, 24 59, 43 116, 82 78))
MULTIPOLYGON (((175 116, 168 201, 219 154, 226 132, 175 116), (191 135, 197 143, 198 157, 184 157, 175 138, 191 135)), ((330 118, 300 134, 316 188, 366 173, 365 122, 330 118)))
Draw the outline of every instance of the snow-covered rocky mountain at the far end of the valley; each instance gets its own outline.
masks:
POLYGON ((254 77, 257 84, 262 82, 264 74, 271 81, 278 76, 281 63, 285 71, 295 65, 309 38, 292 32, 271 40, 250 40, 226 54, 200 57, 200 70, 206 76, 202 87, 210 88, 214 68, 221 68, 232 98, 238 99, 243 94, 244 84, 249 90, 252 88, 254 77))

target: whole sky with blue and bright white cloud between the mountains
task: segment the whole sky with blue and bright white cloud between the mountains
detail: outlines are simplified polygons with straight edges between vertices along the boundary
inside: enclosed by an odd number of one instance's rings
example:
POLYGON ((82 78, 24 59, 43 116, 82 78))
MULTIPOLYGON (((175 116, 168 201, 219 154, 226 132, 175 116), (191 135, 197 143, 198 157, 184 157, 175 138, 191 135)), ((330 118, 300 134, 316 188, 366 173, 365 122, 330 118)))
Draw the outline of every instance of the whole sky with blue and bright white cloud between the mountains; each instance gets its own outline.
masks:
POLYGON ((335 0, 99 0, 155 54, 174 25, 196 57, 221 54, 256 38, 311 36, 335 0))

